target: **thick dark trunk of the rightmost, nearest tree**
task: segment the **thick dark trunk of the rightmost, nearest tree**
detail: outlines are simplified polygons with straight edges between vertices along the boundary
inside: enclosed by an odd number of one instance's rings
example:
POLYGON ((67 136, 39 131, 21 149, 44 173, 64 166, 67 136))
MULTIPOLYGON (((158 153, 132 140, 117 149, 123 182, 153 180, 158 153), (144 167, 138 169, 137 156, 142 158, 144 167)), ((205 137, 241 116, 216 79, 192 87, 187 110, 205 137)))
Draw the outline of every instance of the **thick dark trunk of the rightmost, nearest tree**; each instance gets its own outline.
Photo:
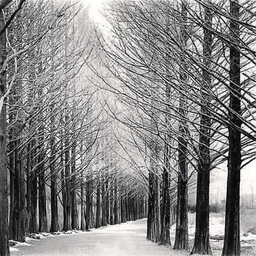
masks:
MULTIPOLYGON (((230 0, 230 32, 234 44, 239 44, 239 1, 230 0)), ((240 101, 240 51, 230 46, 230 127, 228 127, 228 181, 223 256, 240 255, 240 168, 242 121, 240 101), (236 128, 234 128, 234 126, 236 128)))

